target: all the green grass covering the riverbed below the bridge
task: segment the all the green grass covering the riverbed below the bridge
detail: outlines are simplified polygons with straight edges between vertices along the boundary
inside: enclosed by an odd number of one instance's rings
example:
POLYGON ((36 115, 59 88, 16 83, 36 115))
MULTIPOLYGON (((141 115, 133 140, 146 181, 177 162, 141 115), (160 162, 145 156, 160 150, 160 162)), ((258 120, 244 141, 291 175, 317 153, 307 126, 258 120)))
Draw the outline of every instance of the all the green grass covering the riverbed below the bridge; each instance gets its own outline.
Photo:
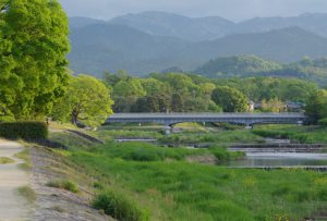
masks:
MULTIPOLYGON (((267 128, 274 126, 256 127, 267 128)), ((274 130, 288 128, 279 126, 274 130)), ((308 136, 314 137, 317 135, 313 134, 320 133, 322 128, 301 130, 306 130, 308 136)), ((234 140, 264 140, 252 131, 237 130, 181 133, 167 136, 161 142, 174 139, 180 143, 211 142, 216 146, 234 140)), ((60 154, 96 181, 92 183, 97 193, 93 206, 119 220, 303 220, 327 210, 325 173, 290 169, 228 169, 185 160, 189 156, 208 152, 222 161, 242 157, 242 154, 227 152, 226 148, 162 148, 144 143, 113 142, 80 148, 77 144, 74 144, 75 148, 60 154)))

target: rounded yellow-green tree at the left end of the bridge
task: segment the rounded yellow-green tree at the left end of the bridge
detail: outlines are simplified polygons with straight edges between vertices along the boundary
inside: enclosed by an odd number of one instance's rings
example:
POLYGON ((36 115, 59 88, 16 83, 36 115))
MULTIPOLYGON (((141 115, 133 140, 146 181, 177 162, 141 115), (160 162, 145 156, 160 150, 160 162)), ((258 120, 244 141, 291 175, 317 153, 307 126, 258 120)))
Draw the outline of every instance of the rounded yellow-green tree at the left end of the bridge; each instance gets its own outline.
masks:
POLYGON ((57 103, 52 115, 56 119, 77 124, 97 126, 112 113, 110 91, 102 82, 87 75, 71 77, 69 91, 57 103))

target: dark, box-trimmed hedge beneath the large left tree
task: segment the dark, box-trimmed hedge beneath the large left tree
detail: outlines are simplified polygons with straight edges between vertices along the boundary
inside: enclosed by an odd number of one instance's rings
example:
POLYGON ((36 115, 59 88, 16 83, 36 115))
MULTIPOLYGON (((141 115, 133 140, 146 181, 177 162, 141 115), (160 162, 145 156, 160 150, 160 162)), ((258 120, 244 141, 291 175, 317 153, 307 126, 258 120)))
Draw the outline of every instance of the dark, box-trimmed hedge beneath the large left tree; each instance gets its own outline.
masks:
POLYGON ((44 122, 2 122, 0 136, 9 139, 45 139, 48 137, 48 126, 44 122))

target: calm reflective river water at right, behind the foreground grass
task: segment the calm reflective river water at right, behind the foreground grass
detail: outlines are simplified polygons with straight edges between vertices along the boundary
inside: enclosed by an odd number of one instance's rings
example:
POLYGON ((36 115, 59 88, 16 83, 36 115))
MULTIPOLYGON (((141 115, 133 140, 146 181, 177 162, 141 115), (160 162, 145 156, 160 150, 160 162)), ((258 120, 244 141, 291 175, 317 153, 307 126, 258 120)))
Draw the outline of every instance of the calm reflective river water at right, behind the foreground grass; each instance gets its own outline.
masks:
POLYGON ((326 165, 327 154, 247 152, 243 160, 228 162, 229 167, 296 167, 326 165))

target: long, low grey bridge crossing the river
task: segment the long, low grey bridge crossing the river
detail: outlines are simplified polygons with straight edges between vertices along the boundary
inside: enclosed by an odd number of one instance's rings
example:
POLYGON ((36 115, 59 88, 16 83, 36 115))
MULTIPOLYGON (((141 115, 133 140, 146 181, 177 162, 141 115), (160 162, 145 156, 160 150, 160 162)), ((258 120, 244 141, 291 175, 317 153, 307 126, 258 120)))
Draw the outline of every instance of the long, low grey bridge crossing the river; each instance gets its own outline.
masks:
POLYGON ((110 123, 158 123, 172 126, 178 123, 233 123, 254 124, 302 124, 308 118, 303 113, 116 113, 110 123))

